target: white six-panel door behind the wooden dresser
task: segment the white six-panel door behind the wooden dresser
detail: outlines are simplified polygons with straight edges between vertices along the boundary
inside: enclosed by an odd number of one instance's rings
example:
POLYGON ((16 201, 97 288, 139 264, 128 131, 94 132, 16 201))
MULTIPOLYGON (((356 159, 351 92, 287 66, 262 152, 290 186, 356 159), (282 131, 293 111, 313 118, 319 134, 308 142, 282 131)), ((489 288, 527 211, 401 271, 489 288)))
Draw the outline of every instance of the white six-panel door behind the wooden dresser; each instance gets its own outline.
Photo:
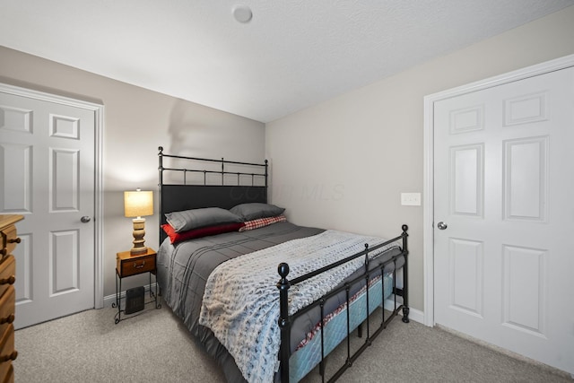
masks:
POLYGON ((24 215, 16 328, 94 307, 95 118, 0 91, 0 213, 24 215))

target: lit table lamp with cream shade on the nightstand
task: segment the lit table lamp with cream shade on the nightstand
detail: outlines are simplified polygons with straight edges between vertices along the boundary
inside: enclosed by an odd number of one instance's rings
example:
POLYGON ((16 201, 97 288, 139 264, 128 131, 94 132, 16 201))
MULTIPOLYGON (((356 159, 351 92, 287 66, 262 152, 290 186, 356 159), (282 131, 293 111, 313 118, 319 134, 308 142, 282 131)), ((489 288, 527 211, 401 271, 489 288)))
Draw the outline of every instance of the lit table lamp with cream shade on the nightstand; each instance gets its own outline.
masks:
POLYGON ((145 239, 145 218, 144 215, 153 215, 153 192, 136 191, 124 192, 124 215, 135 217, 134 222, 134 247, 130 250, 130 255, 137 256, 147 252, 147 247, 143 246, 145 239))

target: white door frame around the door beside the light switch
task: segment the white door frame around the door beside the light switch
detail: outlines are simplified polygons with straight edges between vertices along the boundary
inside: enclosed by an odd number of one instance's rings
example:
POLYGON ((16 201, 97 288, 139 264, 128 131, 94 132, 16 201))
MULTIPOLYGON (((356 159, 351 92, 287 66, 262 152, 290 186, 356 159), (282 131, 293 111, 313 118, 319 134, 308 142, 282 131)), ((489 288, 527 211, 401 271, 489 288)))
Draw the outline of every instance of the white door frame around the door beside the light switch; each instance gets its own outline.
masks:
POLYGON ((574 66, 574 55, 528 66, 507 74, 500 74, 475 83, 468 83, 447 91, 424 97, 423 184, 422 184, 422 259, 424 287, 423 324, 434 326, 434 103, 474 91, 524 80, 574 66))

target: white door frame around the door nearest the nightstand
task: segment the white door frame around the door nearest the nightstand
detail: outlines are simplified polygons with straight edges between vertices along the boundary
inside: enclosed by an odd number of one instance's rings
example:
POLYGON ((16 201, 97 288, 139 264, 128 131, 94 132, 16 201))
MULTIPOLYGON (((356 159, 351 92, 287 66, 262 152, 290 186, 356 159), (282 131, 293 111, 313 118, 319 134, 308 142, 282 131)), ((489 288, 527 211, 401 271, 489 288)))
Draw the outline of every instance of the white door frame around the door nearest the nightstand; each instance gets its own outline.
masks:
POLYGON ((103 274, 103 123, 104 106, 90 101, 76 100, 45 91, 35 91, 6 83, 0 83, 0 91, 29 99, 62 104, 94 112, 94 309, 104 307, 104 274, 103 274))

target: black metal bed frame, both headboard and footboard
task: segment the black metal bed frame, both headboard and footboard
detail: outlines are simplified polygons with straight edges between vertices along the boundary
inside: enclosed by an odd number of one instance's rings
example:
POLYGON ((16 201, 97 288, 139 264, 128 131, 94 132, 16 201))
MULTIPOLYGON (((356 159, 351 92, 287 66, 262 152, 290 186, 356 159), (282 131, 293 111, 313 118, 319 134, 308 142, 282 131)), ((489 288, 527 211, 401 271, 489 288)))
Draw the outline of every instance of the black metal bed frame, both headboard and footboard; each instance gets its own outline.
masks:
MULTIPOLYGON (((239 204, 249 203, 249 202, 258 202, 258 203, 267 203, 267 187, 268 187, 268 163, 265 160, 265 163, 250 163, 250 162, 240 162, 240 161, 226 161, 223 158, 221 160, 211 160, 211 159, 204 159, 204 158, 196 158, 196 157, 186 157, 186 156, 179 156, 179 155, 172 155, 166 154, 163 152, 163 147, 158 148, 158 156, 159 156, 159 191, 160 191, 160 226, 166 222, 165 213, 170 213, 173 211, 178 210, 188 210, 188 209, 196 209, 202 207, 222 207, 225 209, 230 209, 231 207, 239 204), (196 169, 187 169, 181 167, 164 167, 164 159, 177 159, 183 161, 199 161, 199 162, 207 162, 212 164, 221 164, 221 170, 196 170, 196 169), (259 170, 260 172, 246 172, 246 171, 231 171, 229 168, 233 166, 239 167, 254 167, 254 169, 259 170), (183 179, 181 179, 181 184, 164 184, 164 172, 165 171, 172 171, 176 173, 180 173, 183 175, 183 179), (199 185, 191 185, 187 184, 187 174, 188 173, 199 173, 203 174, 203 184, 199 185), (221 183, 216 185, 208 185, 207 176, 209 174, 214 175, 221 175, 221 183), (226 176, 236 176, 237 181, 233 185, 225 185, 225 177, 226 176), (240 181, 243 178, 251 178, 250 185, 240 185, 240 181), (255 185, 255 180, 257 178, 263 178, 263 186, 255 185), (193 197, 190 197, 193 196, 193 197)), ((366 298, 367 298, 367 312, 366 318, 363 322, 363 325, 366 324, 367 335, 365 337, 365 341, 361 346, 352 352, 351 350, 351 343, 350 343, 350 319, 349 319, 349 309, 347 309, 347 337, 346 337, 346 353, 347 357, 344 362, 344 365, 339 368, 339 370, 335 371, 335 374, 328 379, 329 382, 335 381, 336 379, 340 378, 343 375, 344 371, 348 368, 352 367, 352 363, 359 358, 361 353, 365 351, 367 347, 372 344, 372 341, 387 327, 388 323, 396 317, 397 314, 402 310, 403 313, 403 322, 409 322, 409 307, 408 307, 408 289, 407 289, 407 281, 408 281, 408 269, 407 269, 407 256, 409 254, 408 251, 408 226, 402 226, 402 234, 394 239, 390 239, 385 243, 379 244, 378 246, 369 248, 368 245, 365 244, 365 249, 359 253, 353 254, 350 257, 346 257, 341 261, 338 261, 332 265, 326 265, 320 269, 317 269, 309 274, 301 275, 298 278, 294 278, 289 280, 289 265, 286 263, 281 263, 277 267, 277 272, 280 276, 280 280, 277 283, 277 289, 279 289, 279 305, 280 305, 280 318, 278 319, 278 324, 281 329, 281 347, 278 358, 280 360, 280 377, 283 383, 289 382, 289 359, 291 357, 291 350, 290 350, 290 336, 291 336, 291 323, 294 321, 295 318, 300 317, 310 309, 314 309, 317 306, 320 308, 321 318, 325 318, 326 313, 324 312, 324 306, 326 300, 330 297, 334 296, 335 294, 345 291, 346 292, 346 303, 347 308, 349 308, 350 304, 350 290, 351 286, 354 283, 358 283, 363 279, 367 286, 369 286, 369 282, 371 279, 371 274, 377 272, 377 269, 369 268, 369 253, 371 251, 375 251, 378 248, 382 248, 390 243, 401 241, 402 242, 402 250, 399 254, 395 257, 391 257, 387 262, 380 265, 380 273, 383 275, 387 271, 392 271, 393 273, 393 293, 395 296, 394 300, 394 309, 391 311, 390 315, 385 315, 385 309, 381 309, 382 318, 378 324, 378 326, 372 331, 371 334, 371 317, 374 315, 369 315, 370 308, 369 308, 369 293, 370 288, 366 289, 366 298), (335 268, 338 265, 343 265, 346 262, 351 261, 352 259, 364 257, 365 258, 365 271, 360 276, 356 277, 352 281, 348 283, 344 283, 343 286, 339 287, 338 289, 327 293, 319 300, 311 303, 309 306, 300 309, 297 313, 293 315, 289 315, 289 289, 292 285, 297 283, 301 283, 309 278, 316 276, 317 274, 321 274, 335 268), (403 270, 403 288, 396 287, 396 263, 399 259, 404 258, 404 265, 400 267, 403 270), (398 303, 396 300, 397 296, 401 296, 403 298, 402 303, 398 303)), ((164 231, 161 230, 160 227, 160 243, 163 239, 166 238, 166 234, 164 231)), ((381 288, 383 289, 383 297, 385 297, 385 287, 384 283, 381 283, 381 288)), ((321 334, 321 361, 319 363, 319 372, 322 376, 322 380, 325 381, 325 372, 326 372, 326 354, 324 350, 324 339, 323 339, 323 320, 320 320, 320 334, 321 334)), ((362 327, 363 325, 358 327, 358 335, 362 336, 362 327)), ((339 347, 341 344, 339 344, 339 347)))

